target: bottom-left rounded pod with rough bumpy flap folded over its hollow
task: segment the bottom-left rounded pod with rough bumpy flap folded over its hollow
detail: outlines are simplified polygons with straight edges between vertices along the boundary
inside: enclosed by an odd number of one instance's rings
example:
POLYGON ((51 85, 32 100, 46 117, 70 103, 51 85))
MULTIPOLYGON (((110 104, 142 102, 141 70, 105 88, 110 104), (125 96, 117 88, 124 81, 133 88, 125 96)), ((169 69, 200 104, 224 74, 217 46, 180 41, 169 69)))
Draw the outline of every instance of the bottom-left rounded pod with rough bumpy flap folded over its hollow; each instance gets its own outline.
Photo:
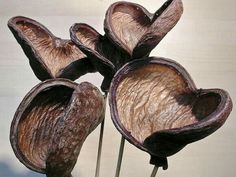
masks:
POLYGON ((47 80, 19 105, 10 141, 17 158, 48 177, 69 177, 86 137, 104 118, 104 98, 88 82, 47 80))

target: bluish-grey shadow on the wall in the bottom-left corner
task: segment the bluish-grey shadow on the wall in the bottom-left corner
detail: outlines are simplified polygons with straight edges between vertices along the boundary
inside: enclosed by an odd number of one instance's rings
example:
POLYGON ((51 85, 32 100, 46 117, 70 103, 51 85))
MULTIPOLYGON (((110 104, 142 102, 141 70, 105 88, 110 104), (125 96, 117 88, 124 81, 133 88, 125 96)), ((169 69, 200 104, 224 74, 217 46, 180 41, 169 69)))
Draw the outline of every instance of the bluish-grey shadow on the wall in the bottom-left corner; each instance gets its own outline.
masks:
POLYGON ((0 177, 45 177, 45 175, 29 170, 26 173, 19 174, 13 171, 9 164, 0 162, 0 177))

